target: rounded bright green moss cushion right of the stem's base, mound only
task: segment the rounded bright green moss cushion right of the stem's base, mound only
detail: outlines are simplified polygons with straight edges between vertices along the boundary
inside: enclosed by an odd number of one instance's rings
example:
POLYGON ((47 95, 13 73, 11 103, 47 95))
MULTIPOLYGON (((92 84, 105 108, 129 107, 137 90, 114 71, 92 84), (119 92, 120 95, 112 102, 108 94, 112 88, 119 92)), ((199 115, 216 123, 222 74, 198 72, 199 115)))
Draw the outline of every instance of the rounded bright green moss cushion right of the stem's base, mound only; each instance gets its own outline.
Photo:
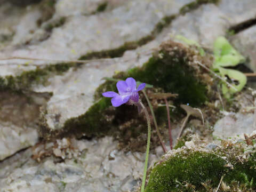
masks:
POLYGON ((228 170, 224 167, 225 164, 225 160, 212 154, 179 154, 157 165, 151 171, 146 191, 193 191, 185 187, 186 183, 190 183, 196 189, 204 188, 201 182, 210 178, 218 186, 221 175, 228 170))

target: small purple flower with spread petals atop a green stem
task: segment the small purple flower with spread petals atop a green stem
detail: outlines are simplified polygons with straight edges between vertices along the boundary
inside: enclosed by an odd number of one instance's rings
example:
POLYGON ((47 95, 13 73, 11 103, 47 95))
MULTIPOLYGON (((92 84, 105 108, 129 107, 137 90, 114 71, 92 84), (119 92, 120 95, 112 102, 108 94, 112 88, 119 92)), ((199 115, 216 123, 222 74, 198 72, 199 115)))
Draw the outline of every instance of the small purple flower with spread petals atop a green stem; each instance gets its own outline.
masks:
POLYGON ((146 83, 141 83, 137 89, 135 79, 132 77, 128 77, 125 81, 117 82, 116 87, 119 94, 113 91, 107 91, 105 93, 102 93, 102 95, 104 97, 112 98, 111 103, 114 107, 119 107, 129 101, 131 103, 137 103, 139 102, 138 91, 144 89, 145 85, 146 83))

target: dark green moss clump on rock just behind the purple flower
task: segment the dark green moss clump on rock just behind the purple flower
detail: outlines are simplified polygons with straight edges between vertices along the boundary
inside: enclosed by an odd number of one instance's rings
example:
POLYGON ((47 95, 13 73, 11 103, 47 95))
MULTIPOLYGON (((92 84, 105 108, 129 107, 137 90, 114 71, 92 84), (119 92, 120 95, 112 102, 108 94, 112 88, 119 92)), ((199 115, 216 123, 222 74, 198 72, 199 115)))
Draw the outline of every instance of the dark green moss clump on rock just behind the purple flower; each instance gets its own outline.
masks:
POLYGON ((174 100, 176 105, 198 106, 206 101, 206 87, 193 74, 195 71, 187 65, 186 58, 175 59, 164 53, 162 59, 152 57, 142 68, 129 70, 126 77, 161 87, 166 93, 178 93, 179 97, 174 100))

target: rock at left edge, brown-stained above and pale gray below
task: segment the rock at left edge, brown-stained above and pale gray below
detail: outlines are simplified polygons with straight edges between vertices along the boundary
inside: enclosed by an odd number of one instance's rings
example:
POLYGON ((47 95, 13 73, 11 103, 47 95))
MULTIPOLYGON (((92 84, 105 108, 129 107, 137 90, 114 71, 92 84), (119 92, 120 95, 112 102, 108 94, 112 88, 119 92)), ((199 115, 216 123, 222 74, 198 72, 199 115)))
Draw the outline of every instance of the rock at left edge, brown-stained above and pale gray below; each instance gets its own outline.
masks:
POLYGON ((29 100, 26 95, 0 92, 0 161, 38 141, 39 106, 49 99, 45 96, 29 100))

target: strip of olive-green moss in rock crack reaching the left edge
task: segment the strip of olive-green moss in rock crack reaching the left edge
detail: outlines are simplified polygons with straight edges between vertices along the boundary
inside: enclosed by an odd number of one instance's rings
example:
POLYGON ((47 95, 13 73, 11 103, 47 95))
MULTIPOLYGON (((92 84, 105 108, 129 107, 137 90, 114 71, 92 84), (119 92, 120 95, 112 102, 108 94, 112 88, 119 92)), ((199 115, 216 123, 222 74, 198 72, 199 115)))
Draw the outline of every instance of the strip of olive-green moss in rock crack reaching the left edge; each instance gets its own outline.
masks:
POLYGON ((0 77, 0 90, 26 90, 33 84, 45 84, 51 73, 60 75, 72 66, 74 66, 73 63, 59 63, 44 68, 38 67, 35 70, 24 71, 15 77, 0 77))

